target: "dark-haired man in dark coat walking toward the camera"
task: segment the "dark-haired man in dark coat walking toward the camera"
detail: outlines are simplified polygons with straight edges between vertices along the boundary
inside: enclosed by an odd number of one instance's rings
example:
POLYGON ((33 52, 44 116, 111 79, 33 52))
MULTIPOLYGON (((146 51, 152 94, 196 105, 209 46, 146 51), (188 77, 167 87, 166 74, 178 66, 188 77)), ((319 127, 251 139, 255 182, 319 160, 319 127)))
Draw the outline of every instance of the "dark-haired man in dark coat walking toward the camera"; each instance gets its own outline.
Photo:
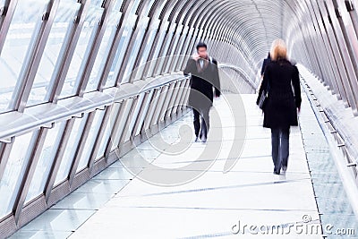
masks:
POLYGON ((220 96, 220 81, 217 70, 217 60, 208 55, 208 47, 200 42, 197 54, 193 55, 183 71, 184 75, 192 74, 189 106, 194 115, 195 141, 199 138, 206 142, 209 132, 209 110, 215 96, 220 96), (201 123, 200 123, 201 118, 201 123))

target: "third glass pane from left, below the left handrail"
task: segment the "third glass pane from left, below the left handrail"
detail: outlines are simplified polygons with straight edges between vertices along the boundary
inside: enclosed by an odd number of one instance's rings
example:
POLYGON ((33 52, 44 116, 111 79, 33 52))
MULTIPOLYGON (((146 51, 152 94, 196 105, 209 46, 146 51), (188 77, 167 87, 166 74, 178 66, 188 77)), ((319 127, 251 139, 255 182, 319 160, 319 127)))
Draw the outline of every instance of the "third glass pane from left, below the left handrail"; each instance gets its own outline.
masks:
POLYGON ((60 168, 55 178, 55 185, 62 183, 69 175, 76 150, 79 146, 84 126, 89 115, 83 118, 76 118, 71 130, 70 139, 67 142, 67 147, 64 150, 64 156, 61 160, 60 168))

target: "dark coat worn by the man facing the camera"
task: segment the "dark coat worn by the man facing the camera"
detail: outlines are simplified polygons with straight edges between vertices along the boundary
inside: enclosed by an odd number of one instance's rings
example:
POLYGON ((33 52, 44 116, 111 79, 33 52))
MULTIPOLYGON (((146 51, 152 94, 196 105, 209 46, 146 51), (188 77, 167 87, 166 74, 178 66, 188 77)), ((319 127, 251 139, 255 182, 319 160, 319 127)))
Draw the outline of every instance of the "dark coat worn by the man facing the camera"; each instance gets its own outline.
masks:
POLYGON ((215 95, 217 97, 220 96, 217 60, 212 59, 211 62, 206 60, 206 64, 207 67, 202 72, 199 72, 198 62, 190 58, 183 71, 184 75, 192 73, 188 104, 196 109, 212 107, 214 98, 213 87, 215 88, 215 95))

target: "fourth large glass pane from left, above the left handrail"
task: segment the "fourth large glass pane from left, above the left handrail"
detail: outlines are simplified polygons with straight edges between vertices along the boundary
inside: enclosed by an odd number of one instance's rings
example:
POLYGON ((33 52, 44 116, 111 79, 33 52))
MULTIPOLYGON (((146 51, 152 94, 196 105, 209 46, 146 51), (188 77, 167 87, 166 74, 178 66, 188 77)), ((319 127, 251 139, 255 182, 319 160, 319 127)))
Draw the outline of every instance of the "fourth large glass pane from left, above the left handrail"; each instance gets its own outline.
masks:
POLYGON ((86 87, 86 92, 97 90, 98 83, 101 80, 101 74, 104 71, 105 64, 107 62, 107 56, 111 49, 112 42, 115 38, 115 31, 117 30, 116 24, 119 21, 120 14, 113 12, 107 24, 107 29, 100 43, 98 55, 93 65, 92 72, 90 73, 90 80, 86 87))

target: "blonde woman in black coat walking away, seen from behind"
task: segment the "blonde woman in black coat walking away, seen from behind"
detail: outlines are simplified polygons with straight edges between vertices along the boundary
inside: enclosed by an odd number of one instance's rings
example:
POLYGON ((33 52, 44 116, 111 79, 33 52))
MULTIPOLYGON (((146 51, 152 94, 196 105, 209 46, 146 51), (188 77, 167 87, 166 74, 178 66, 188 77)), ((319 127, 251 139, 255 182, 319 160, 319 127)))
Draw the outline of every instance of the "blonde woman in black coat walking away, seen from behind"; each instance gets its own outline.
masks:
POLYGON ((297 126, 297 109, 301 107, 301 89, 298 69, 287 59, 286 44, 277 39, 271 47, 271 63, 266 67, 256 104, 263 90, 268 99, 263 107, 263 127, 271 129, 274 174, 286 173, 289 156, 290 127, 297 126), (294 86, 294 91, 292 86, 294 86))

